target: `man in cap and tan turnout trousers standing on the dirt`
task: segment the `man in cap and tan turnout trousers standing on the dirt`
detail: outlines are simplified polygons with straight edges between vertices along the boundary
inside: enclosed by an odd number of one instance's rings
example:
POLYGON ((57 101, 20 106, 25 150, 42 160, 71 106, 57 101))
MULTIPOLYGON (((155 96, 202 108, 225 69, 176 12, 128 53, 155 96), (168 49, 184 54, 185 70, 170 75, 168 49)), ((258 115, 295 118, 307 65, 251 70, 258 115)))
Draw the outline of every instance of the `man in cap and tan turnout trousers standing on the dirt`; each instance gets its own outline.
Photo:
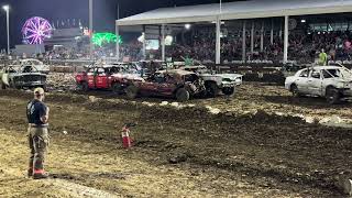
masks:
POLYGON ((44 94, 43 88, 34 89, 34 99, 26 107, 31 150, 28 175, 34 179, 48 177, 48 174, 44 172, 44 160, 50 143, 47 131, 50 109, 43 102, 44 94))

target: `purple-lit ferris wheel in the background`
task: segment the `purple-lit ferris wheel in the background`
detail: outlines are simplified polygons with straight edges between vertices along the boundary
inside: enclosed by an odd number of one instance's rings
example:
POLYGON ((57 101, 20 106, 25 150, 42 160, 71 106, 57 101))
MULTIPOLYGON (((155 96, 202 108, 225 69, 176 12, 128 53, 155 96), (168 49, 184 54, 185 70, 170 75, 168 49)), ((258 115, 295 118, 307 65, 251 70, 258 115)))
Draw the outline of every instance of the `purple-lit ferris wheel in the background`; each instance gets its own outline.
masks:
POLYGON ((25 21, 22 35, 26 44, 42 44, 45 38, 52 36, 52 25, 47 20, 34 16, 25 21))

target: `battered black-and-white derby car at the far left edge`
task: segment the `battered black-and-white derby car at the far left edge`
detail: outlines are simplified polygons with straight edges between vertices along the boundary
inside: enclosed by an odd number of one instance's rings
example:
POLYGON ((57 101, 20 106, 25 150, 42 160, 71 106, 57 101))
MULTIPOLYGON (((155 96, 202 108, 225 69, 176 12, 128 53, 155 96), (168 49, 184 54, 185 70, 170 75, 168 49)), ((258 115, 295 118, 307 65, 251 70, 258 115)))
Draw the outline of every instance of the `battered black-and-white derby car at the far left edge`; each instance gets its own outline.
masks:
POLYGON ((0 88, 46 88, 46 75, 40 73, 32 65, 7 66, 0 72, 0 88))

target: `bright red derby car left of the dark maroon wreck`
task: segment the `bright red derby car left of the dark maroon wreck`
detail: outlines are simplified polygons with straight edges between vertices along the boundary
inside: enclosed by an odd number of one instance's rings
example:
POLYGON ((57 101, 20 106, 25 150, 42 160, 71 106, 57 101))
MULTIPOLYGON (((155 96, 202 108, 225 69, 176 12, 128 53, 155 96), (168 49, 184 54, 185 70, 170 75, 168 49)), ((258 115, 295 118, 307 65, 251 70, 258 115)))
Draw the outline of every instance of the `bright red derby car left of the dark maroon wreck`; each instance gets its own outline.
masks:
POLYGON ((111 89, 120 94, 129 80, 140 79, 140 74, 123 66, 91 67, 87 72, 76 75, 76 84, 80 90, 111 89))

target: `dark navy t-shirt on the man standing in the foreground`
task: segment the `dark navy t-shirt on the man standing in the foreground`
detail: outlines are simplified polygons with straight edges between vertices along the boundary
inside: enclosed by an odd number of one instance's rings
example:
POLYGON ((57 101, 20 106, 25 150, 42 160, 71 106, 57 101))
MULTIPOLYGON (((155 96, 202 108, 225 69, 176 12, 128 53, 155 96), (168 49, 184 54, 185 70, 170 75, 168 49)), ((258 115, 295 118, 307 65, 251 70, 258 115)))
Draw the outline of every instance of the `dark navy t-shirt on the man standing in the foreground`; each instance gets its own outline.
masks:
POLYGON ((33 123, 36 125, 43 125, 44 123, 41 121, 41 118, 46 114, 46 106, 38 101, 32 100, 26 106, 26 116, 29 119, 29 123, 33 123))

